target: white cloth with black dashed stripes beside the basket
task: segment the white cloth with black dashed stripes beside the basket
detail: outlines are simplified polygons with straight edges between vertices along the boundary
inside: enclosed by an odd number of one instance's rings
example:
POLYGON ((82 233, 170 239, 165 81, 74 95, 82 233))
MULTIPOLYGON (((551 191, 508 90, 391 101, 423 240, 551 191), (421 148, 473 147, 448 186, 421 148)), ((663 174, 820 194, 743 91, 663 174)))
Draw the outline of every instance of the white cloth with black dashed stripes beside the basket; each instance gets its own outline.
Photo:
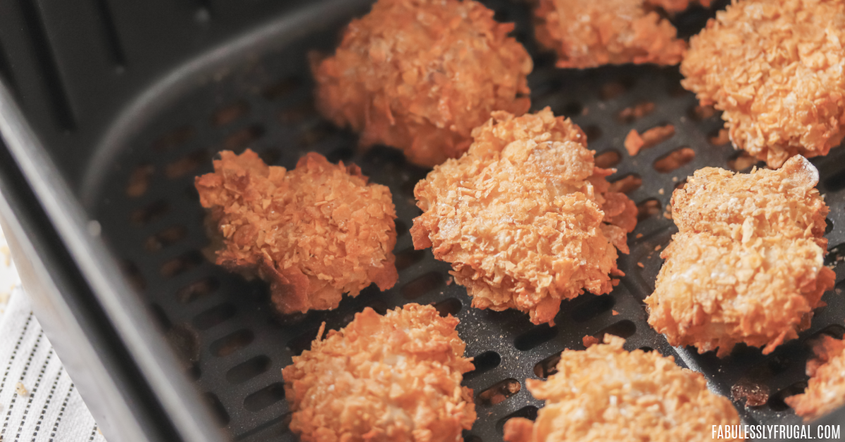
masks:
POLYGON ((0 441, 106 442, 32 314, 0 232, 0 441))

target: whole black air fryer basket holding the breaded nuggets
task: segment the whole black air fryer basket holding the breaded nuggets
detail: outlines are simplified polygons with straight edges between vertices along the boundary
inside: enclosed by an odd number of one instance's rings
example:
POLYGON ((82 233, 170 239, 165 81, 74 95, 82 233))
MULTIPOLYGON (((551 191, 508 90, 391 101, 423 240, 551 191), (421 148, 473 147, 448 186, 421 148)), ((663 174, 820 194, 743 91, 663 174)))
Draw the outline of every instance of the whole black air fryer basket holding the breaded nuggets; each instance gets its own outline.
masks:
MULTIPOLYGON (((8 0, 0 2, 0 215, 35 313, 106 438, 121 441, 296 440, 287 430, 281 368, 303 352, 321 322, 339 328, 356 312, 432 303, 461 319, 476 369, 478 420, 466 440, 497 441, 509 417, 536 417, 542 402, 526 378, 550 374, 564 348, 612 333, 625 347, 672 355, 732 397, 732 387, 768 389, 764 405, 734 405, 744 423, 797 424, 783 398, 804 389, 809 341, 842 337, 845 302, 823 298, 810 330, 763 356, 739 346, 730 357, 670 347, 646 324, 663 248, 676 232, 665 216, 674 188, 696 169, 749 169, 718 145, 722 120, 681 89, 678 68, 554 68, 537 49, 531 7, 487 0, 535 62, 532 110, 551 106, 585 129, 609 177, 640 209, 627 276, 612 293, 564 302, 557 325, 526 314, 470 307, 450 266, 414 250, 408 228, 420 214, 413 187, 427 170, 397 150, 355 149, 356 136, 313 108, 308 52, 330 52, 370 0, 8 0), (651 103, 651 104, 648 104, 651 103), (652 109, 640 116, 632 106, 652 109), (653 107, 652 107, 653 105, 653 107), (629 156, 631 128, 673 124, 675 134, 629 156), (267 286, 205 258, 204 210, 194 177, 219 150, 259 152, 292 167, 308 151, 352 161, 388 185, 399 220, 399 282, 374 286, 328 312, 281 317, 267 286)), ((724 7, 724 1, 721 3, 724 7)), ((695 34, 713 10, 673 18, 695 34)), ((845 150, 812 160, 831 207, 827 264, 845 251, 845 150)), ((746 171, 747 172, 747 171, 746 171)), ((845 270, 835 267, 837 281, 845 270)), ((820 423, 842 423, 839 410, 820 423)))

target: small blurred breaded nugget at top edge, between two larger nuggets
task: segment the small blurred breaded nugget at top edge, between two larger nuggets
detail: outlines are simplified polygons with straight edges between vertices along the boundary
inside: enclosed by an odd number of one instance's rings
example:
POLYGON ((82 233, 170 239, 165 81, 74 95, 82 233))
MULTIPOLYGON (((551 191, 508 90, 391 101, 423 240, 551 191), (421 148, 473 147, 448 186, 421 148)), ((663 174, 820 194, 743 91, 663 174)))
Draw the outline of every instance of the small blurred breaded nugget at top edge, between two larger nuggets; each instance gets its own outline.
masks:
MULTIPOLYGON (((659 2, 664 3, 679 8, 684 2, 659 2)), ((677 64, 686 43, 650 6, 645 0, 540 0, 535 34, 543 46, 558 52, 559 68, 677 64)))

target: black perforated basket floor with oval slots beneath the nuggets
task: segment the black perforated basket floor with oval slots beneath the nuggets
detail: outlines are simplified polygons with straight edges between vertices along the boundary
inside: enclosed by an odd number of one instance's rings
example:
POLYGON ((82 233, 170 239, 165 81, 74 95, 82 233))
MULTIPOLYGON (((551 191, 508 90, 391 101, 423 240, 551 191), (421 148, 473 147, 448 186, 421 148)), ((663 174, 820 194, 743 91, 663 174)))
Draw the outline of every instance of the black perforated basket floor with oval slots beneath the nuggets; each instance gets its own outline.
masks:
MULTIPOLYGON (((471 308, 466 290, 449 284, 449 265, 435 261, 430 250, 412 247, 408 227, 420 213, 412 190, 428 171, 407 164, 388 148, 357 153, 354 134, 333 128, 313 111, 307 52, 330 50, 337 30, 304 35, 284 52, 198 84, 161 113, 126 146, 95 199, 100 202, 95 215, 103 236, 149 298, 162 328, 187 338, 189 348, 194 347, 192 333, 185 330, 197 332, 196 348, 183 350, 199 352, 199 363, 188 363, 188 374, 220 417, 221 427, 237 440, 296 439, 286 429, 289 413, 281 368, 308 348, 322 321, 338 328, 366 306, 384 312, 408 302, 434 303, 441 312, 461 319, 458 330, 477 366, 465 381, 475 390, 478 412, 467 440, 500 440, 507 417, 536 416, 542 403, 524 388, 525 379, 547 376, 564 348, 581 349, 583 336, 605 332, 627 338, 628 349, 648 347, 673 355, 680 365, 704 373, 711 388, 723 396, 731 397, 731 387, 740 379, 765 385, 771 390, 765 405, 746 408, 735 402, 746 423, 799 423, 782 398, 803 388, 810 355, 806 341, 820 332, 841 336, 845 330, 841 296, 826 293, 827 307, 816 312, 812 327, 799 340, 767 357, 759 349, 740 346, 722 360, 712 352, 699 355, 669 347, 646 324, 641 302, 653 290, 662 264, 657 248, 665 247, 676 232, 664 217, 673 189, 703 166, 750 168, 754 161, 738 159, 730 145, 713 143, 722 121, 717 112, 696 108, 694 95, 680 88, 677 68, 553 68, 554 57, 538 53, 532 42, 525 4, 487 3, 497 11, 497 19, 517 22, 515 34, 535 56, 530 77, 533 110, 551 106, 585 128, 602 166, 619 170, 610 179, 640 207, 640 223, 630 235, 631 253, 619 259, 627 276, 608 295, 587 294, 563 303, 551 328, 534 326, 518 312, 471 308), (631 128, 642 133, 665 124, 673 124, 673 136, 638 156, 629 156, 622 147, 631 128), (334 311, 281 319, 269 306, 263 282, 245 281, 204 259, 201 250, 209 241, 194 176, 210 172, 218 150, 247 147, 268 163, 286 167, 294 166, 305 152, 317 151, 330 161, 355 162, 374 182, 388 185, 399 216, 396 286, 387 292, 369 287, 334 311)), ((695 9, 674 21, 683 35, 690 35, 708 14, 695 9)), ((831 206, 831 249, 845 243, 843 156, 845 150, 833 150, 813 160, 822 177, 820 190, 831 206)), ((836 254, 828 260, 835 264, 836 254)), ((837 269, 837 281, 842 276, 837 269)))

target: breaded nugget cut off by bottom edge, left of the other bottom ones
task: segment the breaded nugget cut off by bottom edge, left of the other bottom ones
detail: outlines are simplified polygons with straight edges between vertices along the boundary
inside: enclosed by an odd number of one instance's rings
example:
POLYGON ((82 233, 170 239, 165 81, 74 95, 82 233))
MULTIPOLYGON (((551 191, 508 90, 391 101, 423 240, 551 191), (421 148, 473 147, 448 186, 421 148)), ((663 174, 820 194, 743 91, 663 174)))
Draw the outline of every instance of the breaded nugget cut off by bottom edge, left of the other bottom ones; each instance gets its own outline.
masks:
POLYGON ((451 315, 407 304, 384 316, 366 308, 342 330, 323 329, 282 370, 290 428, 304 442, 461 441, 472 428, 472 390, 451 315))

